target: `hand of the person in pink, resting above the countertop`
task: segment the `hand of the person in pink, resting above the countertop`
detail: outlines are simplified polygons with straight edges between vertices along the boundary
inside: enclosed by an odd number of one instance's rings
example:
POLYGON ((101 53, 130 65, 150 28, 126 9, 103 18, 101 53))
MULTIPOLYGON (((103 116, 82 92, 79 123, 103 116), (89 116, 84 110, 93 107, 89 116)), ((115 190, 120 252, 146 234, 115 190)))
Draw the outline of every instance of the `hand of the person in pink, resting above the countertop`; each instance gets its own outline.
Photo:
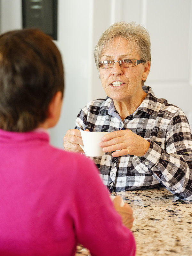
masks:
POLYGON ((122 223, 124 224, 125 227, 131 229, 133 226, 133 210, 131 206, 127 203, 124 204, 123 207, 120 206, 121 204, 121 196, 116 196, 115 199, 113 200, 113 205, 116 209, 116 211, 120 214, 122 218, 122 223))

